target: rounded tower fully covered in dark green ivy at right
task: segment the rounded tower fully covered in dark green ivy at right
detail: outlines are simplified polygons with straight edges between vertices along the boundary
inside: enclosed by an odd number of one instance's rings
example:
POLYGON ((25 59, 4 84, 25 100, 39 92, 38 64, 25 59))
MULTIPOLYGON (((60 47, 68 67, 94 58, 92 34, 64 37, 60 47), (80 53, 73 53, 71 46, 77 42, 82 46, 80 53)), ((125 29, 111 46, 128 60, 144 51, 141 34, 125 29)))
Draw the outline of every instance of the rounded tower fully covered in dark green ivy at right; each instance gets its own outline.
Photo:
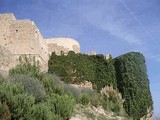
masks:
POLYGON ((140 53, 130 52, 115 58, 115 68, 117 87, 125 98, 124 108, 134 119, 139 119, 153 104, 145 58, 140 53))

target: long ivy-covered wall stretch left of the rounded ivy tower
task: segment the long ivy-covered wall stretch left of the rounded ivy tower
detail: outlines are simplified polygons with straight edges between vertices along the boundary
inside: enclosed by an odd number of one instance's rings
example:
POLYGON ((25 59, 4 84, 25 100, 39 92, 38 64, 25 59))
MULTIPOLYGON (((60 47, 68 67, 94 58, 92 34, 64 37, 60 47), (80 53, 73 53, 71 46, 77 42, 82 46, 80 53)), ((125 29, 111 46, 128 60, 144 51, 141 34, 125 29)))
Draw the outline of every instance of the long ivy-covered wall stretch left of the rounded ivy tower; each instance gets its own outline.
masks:
POLYGON ((67 83, 90 81, 94 89, 101 90, 105 85, 116 88, 116 75, 113 61, 103 55, 85 55, 69 52, 57 56, 53 53, 49 60, 49 72, 56 73, 67 83))

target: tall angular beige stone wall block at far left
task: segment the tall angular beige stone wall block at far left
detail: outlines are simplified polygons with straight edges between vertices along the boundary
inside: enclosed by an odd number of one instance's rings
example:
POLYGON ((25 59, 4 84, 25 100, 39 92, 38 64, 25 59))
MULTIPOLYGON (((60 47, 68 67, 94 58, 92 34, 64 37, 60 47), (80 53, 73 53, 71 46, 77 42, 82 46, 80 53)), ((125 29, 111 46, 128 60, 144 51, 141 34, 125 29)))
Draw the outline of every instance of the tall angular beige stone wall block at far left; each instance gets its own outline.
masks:
MULTIPOLYGON (((48 46, 33 21, 16 20, 13 14, 0 14, 0 45, 10 51, 14 59, 14 65, 9 64, 8 68, 17 65, 20 56, 30 55, 36 56, 41 68, 47 71, 48 46)), ((8 63, 6 59, 2 62, 8 63)))

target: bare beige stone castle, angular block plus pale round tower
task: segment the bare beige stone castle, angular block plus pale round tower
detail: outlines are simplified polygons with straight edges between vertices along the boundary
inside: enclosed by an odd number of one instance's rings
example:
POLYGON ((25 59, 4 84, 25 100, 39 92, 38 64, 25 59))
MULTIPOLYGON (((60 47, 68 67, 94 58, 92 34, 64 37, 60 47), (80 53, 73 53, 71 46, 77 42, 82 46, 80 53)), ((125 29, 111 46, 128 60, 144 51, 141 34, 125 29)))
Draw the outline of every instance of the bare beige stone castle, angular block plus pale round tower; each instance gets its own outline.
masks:
POLYGON ((36 24, 29 20, 16 20, 12 13, 0 14, 0 73, 19 64, 27 56, 38 61, 42 71, 47 71, 52 52, 60 55, 69 51, 80 52, 80 45, 70 38, 45 39, 36 24))

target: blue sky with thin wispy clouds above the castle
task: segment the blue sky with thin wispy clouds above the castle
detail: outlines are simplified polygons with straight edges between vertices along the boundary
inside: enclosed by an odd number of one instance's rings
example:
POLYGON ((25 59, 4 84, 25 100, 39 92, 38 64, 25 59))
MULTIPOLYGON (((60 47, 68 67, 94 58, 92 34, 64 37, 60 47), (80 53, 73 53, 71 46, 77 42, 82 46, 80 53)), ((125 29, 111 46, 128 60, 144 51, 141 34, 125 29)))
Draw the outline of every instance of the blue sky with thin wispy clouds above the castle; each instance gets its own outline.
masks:
POLYGON ((143 53, 160 115, 160 0, 0 0, 6 12, 33 20, 45 38, 76 39, 81 52, 143 53))

